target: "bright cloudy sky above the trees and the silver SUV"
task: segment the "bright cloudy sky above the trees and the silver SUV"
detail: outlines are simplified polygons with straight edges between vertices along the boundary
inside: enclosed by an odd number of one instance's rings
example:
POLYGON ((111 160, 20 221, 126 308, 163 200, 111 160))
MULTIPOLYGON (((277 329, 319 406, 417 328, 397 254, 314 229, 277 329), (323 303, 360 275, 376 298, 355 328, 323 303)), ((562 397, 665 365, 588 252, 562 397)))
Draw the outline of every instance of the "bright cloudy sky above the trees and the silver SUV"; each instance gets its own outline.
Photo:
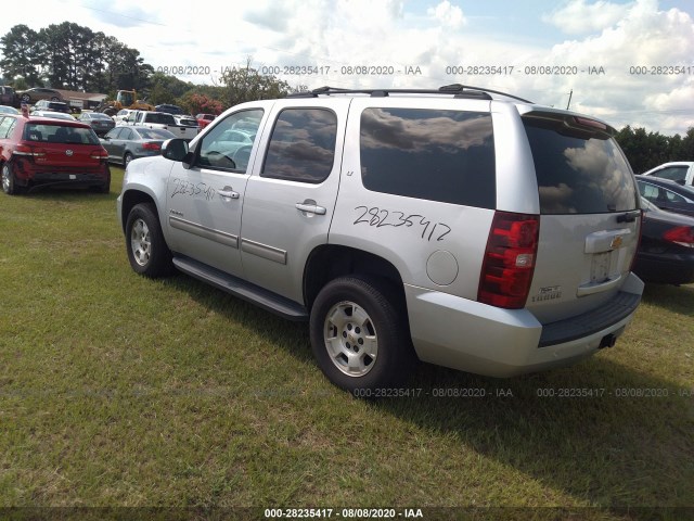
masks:
POLYGON ((557 107, 573 90, 573 110, 617 128, 694 127, 692 0, 33 0, 3 10, 0 35, 63 21, 194 82, 250 58, 292 86, 461 82, 557 107))

